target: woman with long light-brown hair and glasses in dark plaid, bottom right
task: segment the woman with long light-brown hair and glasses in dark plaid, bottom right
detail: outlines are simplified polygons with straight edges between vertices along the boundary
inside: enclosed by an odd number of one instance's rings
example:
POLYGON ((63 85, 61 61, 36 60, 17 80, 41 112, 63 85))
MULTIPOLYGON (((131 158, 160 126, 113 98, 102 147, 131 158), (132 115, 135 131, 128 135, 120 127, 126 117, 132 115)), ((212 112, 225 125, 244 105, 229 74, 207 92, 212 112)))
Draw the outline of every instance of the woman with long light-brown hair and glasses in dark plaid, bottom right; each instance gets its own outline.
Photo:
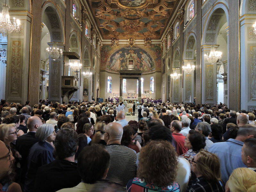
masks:
POLYGON ((191 170, 195 173, 196 179, 191 181, 188 192, 225 191, 224 183, 220 179, 220 160, 215 154, 201 149, 191 160, 191 170))

